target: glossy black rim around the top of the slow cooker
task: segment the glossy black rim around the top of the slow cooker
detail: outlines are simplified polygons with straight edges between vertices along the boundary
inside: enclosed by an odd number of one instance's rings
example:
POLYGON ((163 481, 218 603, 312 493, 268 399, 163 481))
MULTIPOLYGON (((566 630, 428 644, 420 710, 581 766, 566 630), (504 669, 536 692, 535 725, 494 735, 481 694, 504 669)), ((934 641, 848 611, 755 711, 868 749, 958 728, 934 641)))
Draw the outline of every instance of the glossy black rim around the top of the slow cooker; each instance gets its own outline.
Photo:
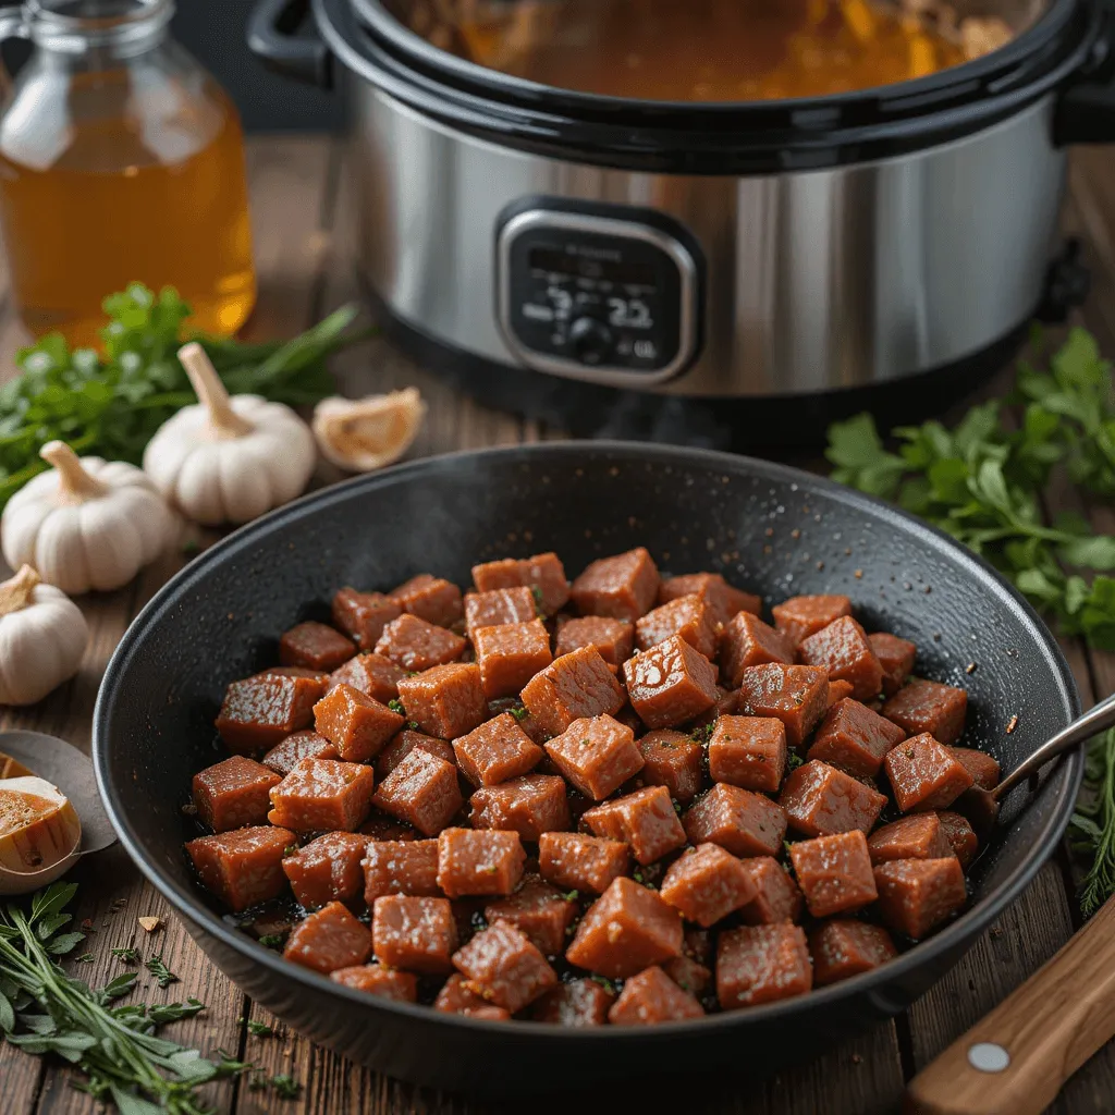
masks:
MULTIPOLYGON (((997 2, 1024 20, 1034 11, 1030 0, 997 2)), ((450 128, 551 157, 688 174, 824 168, 970 135, 1089 67, 1104 25, 1098 0, 1048 0, 1002 48, 929 77, 827 97, 695 104, 552 88, 477 66, 405 27, 381 0, 312 8, 349 70, 450 128)))

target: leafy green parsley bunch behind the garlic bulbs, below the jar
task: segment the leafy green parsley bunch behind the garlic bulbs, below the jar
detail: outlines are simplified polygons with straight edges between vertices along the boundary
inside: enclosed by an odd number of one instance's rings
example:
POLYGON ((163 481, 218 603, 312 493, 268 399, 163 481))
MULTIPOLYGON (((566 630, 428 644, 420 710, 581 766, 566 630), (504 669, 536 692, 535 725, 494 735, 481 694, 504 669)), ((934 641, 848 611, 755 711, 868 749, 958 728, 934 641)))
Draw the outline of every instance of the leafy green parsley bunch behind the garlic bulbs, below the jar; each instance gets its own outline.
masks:
MULTIPOLYGON (((0 387, 0 510, 47 468, 39 459, 47 442, 138 465, 158 427, 197 401, 177 358, 190 339, 190 307, 177 291, 133 283, 105 299, 105 313, 103 352, 71 350, 51 333, 18 353, 21 375, 0 387)), ((232 394, 302 406, 332 392, 327 358, 367 336, 350 329, 356 313, 345 307, 290 341, 195 339, 232 394)))

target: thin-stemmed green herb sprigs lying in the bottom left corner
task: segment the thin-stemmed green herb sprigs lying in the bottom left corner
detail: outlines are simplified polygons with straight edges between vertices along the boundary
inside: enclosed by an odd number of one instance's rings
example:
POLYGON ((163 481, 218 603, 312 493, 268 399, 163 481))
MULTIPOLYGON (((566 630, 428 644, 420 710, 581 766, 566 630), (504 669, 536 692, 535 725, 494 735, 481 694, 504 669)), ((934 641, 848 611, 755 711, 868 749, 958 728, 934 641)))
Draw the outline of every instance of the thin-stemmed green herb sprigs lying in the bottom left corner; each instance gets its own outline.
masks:
POLYGON ((197 1089, 251 1066, 207 1060, 156 1036, 161 1026, 203 1010, 196 999, 117 1007, 114 1001, 135 987, 134 971, 100 990, 68 976, 57 958, 85 939, 66 929, 76 891, 75 883, 55 883, 29 904, 13 902, 0 911, 0 1034, 26 1053, 68 1060, 85 1074, 78 1087, 112 1101, 123 1115, 204 1115, 197 1089))

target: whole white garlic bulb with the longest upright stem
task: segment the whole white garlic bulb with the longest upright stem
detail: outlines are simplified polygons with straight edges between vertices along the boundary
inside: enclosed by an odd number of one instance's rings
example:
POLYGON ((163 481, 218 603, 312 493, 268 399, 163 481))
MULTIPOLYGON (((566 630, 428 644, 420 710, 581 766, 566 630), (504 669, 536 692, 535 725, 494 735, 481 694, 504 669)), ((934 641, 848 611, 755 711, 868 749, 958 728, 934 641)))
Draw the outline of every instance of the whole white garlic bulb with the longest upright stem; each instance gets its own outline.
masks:
POLYGON ((301 495, 317 454, 310 428, 288 406, 229 397, 205 350, 178 350, 201 403, 168 418, 143 466, 176 506, 209 526, 246 523, 301 495))

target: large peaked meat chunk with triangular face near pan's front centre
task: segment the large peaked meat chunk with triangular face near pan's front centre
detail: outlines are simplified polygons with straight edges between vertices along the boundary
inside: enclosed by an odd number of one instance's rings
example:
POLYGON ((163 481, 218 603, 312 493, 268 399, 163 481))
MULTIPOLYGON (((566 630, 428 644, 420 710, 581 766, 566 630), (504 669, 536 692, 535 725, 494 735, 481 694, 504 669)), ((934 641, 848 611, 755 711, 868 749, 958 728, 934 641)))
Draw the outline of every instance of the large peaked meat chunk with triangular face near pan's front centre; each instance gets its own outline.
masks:
POLYGON ((681 915, 653 891, 621 878, 589 906, 565 959, 608 979, 628 979, 681 956, 681 915))

